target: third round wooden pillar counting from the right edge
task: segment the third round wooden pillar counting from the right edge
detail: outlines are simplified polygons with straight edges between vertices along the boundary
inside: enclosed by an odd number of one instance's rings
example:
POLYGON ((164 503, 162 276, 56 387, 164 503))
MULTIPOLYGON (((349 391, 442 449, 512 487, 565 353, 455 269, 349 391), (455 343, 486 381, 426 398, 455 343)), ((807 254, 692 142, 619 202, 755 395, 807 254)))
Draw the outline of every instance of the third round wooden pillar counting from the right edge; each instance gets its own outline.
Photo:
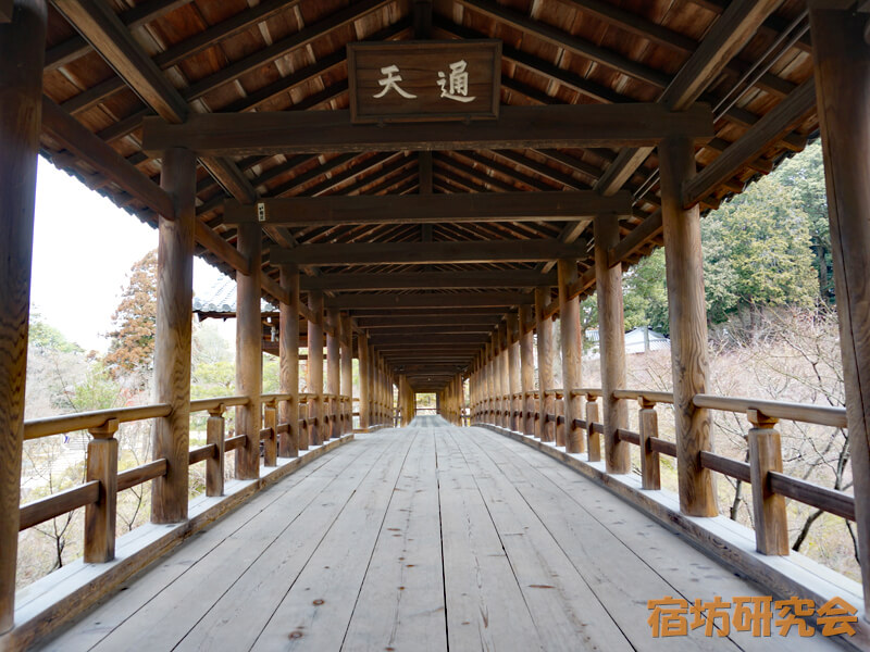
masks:
MULTIPOLYGON (((625 389, 625 321, 622 308, 622 265, 612 267, 608 250, 619 242, 619 223, 613 215, 595 218, 595 288, 598 296, 598 341, 601 352, 601 412, 605 426, 607 473, 629 473, 631 451, 617 430, 629 427, 629 405, 613 397, 625 389)), ((703 297, 701 297, 703 298, 703 297)), ((580 314, 577 313, 577 318, 580 314)), ((577 324, 577 328, 580 325, 577 324)), ((577 331, 577 337, 580 333, 577 331)))

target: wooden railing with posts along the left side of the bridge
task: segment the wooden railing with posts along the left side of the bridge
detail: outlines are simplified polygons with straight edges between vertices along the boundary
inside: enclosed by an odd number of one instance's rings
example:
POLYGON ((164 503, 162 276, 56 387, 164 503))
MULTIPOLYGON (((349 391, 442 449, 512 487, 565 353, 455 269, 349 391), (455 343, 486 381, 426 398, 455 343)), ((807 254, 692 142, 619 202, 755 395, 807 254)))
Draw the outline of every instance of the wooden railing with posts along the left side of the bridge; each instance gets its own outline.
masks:
MULTIPOLYGON (((352 400, 347 396, 298 394, 298 427, 290 428, 286 422, 278 423, 278 408, 289 403, 293 394, 263 394, 259 440, 262 442, 263 466, 276 466, 277 457, 296 456, 298 450, 307 450, 309 443, 319 444, 352 430, 352 400), (307 410, 302 410, 302 406, 307 410), (302 414, 304 413, 304 414, 302 414), (320 428, 312 438, 314 428, 320 428)), ((249 403, 247 397, 217 397, 190 401, 190 413, 208 412, 207 443, 188 452, 188 465, 206 463, 206 494, 219 497, 224 493, 225 453, 243 448, 247 434, 225 437, 227 409, 249 403)), ((284 411, 291 414, 290 411, 284 411)), ((20 507, 18 531, 62 516, 67 512, 85 507, 84 557, 87 563, 108 562, 114 557, 117 492, 130 489, 166 475, 169 462, 165 457, 153 460, 134 468, 117 472, 117 440, 115 434, 122 423, 166 417, 171 414, 167 404, 142 405, 83 412, 52 416, 26 422, 24 439, 34 440, 76 430, 90 435, 86 453, 85 482, 29 502, 20 507)))

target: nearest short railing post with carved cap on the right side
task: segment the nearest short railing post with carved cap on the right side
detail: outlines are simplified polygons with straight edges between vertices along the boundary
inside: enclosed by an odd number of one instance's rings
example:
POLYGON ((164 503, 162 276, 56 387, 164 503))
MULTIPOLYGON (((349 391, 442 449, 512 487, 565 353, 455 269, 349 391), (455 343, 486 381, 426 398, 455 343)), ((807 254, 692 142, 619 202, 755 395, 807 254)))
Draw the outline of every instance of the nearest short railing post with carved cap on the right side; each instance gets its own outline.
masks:
POLYGON ((785 498, 770 490, 768 473, 782 473, 780 434, 770 418, 758 410, 746 413, 749 423, 749 474, 753 485, 756 549, 762 554, 788 554, 788 518, 785 498))

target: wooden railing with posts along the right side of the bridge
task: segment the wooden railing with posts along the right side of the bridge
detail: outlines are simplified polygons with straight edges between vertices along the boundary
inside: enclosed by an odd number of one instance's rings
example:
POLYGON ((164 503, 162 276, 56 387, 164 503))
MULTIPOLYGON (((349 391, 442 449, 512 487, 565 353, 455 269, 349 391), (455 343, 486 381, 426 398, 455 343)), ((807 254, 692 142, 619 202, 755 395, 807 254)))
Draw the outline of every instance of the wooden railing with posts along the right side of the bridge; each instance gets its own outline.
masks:
MULTIPOLYGON (((605 432, 605 425, 598 416, 601 390, 570 390, 570 397, 586 398, 586 418, 575 418, 568 425, 563 416, 564 393, 562 389, 545 389, 543 392, 488 398, 472 406, 472 421, 519 431, 540 441, 555 442, 557 447, 564 446, 567 426, 580 428, 585 432, 587 461, 600 461, 601 435, 605 432)), ((675 459, 678 449, 674 442, 659 437, 656 406, 672 404, 673 394, 618 389, 613 391, 613 399, 637 401, 639 431, 620 428, 616 430, 616 437, 619 441, 639 447, 642 488, 660 489, 660 455, 675 459)), ((751 485, 756 547, 759 552, 788 554, 786 498, 855 521, 854 497, 783 473, 780 435, 775 429, 776 423, 782 419, 845 428, 845 409, 710 394, 697 394, 693 403, 697 408, 746 415, 749 426, 749 461, 703 451, 700 466, 751 485)))

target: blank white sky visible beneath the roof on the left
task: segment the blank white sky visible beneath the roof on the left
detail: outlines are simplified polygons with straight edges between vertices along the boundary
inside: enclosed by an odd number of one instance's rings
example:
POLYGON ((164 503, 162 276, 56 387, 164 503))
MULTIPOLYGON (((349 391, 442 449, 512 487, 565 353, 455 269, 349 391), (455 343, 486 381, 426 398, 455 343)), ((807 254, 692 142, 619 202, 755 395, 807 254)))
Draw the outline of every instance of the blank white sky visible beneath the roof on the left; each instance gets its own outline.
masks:
MULTIPOLYGON (((129 268, 157 248, 142 224, 40 156, 30 310, 85 350, 104 352, 129 268)), ((223 275, 194 262, 194 290, 223 275)))

